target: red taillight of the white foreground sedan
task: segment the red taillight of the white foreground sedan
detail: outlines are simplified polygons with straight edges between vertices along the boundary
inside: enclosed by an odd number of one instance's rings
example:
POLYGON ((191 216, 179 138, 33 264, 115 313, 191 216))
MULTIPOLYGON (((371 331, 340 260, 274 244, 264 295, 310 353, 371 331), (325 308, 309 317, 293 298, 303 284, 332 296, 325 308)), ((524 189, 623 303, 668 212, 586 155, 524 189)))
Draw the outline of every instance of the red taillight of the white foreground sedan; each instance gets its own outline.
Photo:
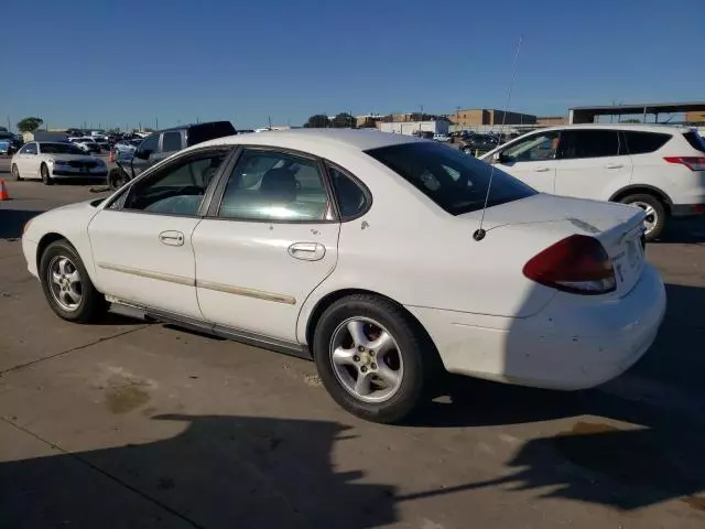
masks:
POLYGON ((605 294, 615 290, 615 269, 603 245, 586 235, 572 235, 550 246, 524 264, 536 283, 575 294, 605 294))

